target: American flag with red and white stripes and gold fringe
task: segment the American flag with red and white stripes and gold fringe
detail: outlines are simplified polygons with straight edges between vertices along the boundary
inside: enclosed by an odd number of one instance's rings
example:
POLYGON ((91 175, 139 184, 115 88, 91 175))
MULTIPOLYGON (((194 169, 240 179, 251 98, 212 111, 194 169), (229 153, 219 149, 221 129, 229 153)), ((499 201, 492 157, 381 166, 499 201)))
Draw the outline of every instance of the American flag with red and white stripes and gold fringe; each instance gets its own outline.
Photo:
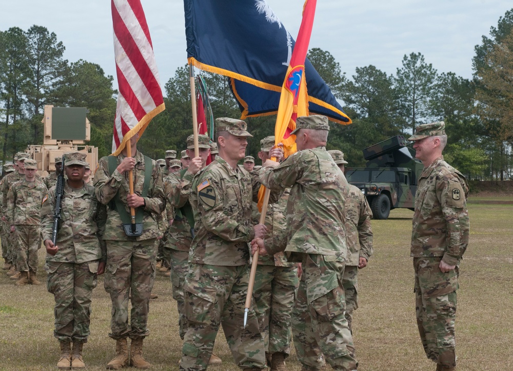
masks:
POLYGON ((137 132, 141 138, 165 106, 141 1, 112 0, 111 7, 119 83, 112 154, 118 155, 137 132))

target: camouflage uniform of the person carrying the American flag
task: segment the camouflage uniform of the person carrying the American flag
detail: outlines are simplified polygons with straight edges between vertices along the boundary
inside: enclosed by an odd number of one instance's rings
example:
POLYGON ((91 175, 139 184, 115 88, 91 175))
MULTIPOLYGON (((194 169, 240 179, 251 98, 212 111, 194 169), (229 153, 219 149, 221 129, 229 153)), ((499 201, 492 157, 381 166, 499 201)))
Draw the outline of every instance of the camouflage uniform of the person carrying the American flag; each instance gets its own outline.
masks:
MULTIPOLYGON (((119 165, 125 156, 117 156, 119 165)), ((135 153, 133 169, 133 189, 139 193, 144 185, 145 166, 151 166, 148 194, 144 198, 146 206, 143 217, 143 234, 139 237, 127 237, 122 229, 119 213, 108 208, 107 223, 103 239, 107 243, 107 266, 105 268, 105 290, 112 300, 111 333, 112 339, 143 339, 148 336, 147 328, 149 299, 155 280, 155 240, 159 236, 156 218, 165 209, 164 183, 160 167, 155 161, 145 164, 144 155, 135 153), (130 324, 128 324, 128 297, 131 294, 130 324)), ((109 175, 108 159, 100 159, 94 174, 94 188, 97 199, 104 205, 113 201, 119 192, 121 202, 127 204, 129 194, 128 171, 119 171, 109 175)), ((130 213, 128 206, 126 211, 130 213)))

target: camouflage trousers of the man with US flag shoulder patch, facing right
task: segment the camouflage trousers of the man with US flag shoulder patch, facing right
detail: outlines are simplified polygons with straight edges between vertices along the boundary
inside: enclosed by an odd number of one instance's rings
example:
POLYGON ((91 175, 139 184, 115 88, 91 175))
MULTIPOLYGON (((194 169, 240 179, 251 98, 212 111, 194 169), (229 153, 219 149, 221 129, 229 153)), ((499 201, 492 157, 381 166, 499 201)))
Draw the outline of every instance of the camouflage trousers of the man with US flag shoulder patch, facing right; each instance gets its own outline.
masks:
POLYGON ((182 348, 181 370, 207 369, 219 326, 235 364, 241 368, 266 368, 264 339, 253 308, 246 328, 244 305, 248 266, 191 264, 184 284, 188 326, 182 348))

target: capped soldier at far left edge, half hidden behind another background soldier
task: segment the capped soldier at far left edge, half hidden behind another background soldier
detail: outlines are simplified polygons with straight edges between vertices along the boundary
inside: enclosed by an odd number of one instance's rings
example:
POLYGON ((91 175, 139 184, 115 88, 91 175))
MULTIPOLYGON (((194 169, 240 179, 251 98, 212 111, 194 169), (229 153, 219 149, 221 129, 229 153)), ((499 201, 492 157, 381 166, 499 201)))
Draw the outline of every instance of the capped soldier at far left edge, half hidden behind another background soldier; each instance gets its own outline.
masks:
POLYGON ((6 211, 7 211, 7 193, 9 192, 9 188, 14 182, 24 180, 25 179, 25 167, 24 162, 25 159, 29 159, 30 155, 25 152, 17 152, 14 156, 14 168, 15 171, 5 175, 2 178, 2 183, 0 183, 0 199, 2 200, 0 204, 0 216, 2 221, 5 223, 5 229, 7 231, 6 235, 6 243, 7 243, 7 258, 10 262, 11 268, 7 272, 8 276, 11 276, 12 279, 18 280, 20 273, 16 269, 16 260, 17 260, 17 251, 16 251, 16 241, 14 239, 14 233, 11 233, 11 226, 7 223, 6 211))

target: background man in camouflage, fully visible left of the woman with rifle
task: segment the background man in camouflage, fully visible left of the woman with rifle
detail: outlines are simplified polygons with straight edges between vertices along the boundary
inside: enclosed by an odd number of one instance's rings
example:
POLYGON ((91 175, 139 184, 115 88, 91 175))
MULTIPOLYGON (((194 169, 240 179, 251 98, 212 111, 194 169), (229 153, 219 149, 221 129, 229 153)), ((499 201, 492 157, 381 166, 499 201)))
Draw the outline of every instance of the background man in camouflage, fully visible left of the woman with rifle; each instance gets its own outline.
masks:
POLYGON ((35 177, 35 160, 24 160, 24 168, 25 179, 13 183, 7 193, 7 222, 14 233, 20 272, 16 285, 41 285, 36 278, 37 250, 41 247, 41 204, 48 189, 35 177))

